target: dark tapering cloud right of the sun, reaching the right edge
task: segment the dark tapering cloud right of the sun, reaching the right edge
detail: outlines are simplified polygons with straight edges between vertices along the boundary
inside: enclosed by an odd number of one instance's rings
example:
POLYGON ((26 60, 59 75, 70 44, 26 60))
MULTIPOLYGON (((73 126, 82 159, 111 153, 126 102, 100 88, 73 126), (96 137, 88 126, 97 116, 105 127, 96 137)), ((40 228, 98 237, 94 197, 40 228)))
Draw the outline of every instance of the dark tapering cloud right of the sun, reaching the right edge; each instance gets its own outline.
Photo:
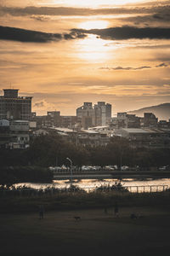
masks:
POLYGON ((72 29, 72 32, 94 34, 105 40, 126 40, 126 39, 170 39, 170 28, 166 27, 136 27, 121 26, 105 29, 72 29))

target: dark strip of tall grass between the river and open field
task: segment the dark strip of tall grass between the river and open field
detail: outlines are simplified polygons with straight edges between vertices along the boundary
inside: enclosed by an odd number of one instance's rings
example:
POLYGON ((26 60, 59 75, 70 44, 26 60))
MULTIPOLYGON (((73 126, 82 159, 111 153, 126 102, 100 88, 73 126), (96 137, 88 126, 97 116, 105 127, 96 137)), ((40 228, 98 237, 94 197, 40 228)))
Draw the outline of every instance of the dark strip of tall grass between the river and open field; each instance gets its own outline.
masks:
POLYGON ((157 193, 97 192, 57 193, 55 195, 0 196, 0 213, 36 212, 42 204, 47 211, 70 211, 111 207, 164 207, 170 209, 170 191, 157 193))

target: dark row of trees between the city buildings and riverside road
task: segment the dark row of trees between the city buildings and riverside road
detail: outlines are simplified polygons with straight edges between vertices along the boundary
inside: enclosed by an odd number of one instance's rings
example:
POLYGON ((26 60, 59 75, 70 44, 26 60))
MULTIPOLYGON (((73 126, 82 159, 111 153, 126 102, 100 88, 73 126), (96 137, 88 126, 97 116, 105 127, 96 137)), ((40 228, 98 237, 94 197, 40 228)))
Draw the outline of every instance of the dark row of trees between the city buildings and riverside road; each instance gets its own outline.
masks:
POLYGON ((92 147, 68 143, 59 135, 35 137, 30 148, 0 149, 2 166, 69 166, 69 157, 74 166, 150 166, 170 165, 169 148, 131 148, 126 139, 111 138, 105 146, 92 147))

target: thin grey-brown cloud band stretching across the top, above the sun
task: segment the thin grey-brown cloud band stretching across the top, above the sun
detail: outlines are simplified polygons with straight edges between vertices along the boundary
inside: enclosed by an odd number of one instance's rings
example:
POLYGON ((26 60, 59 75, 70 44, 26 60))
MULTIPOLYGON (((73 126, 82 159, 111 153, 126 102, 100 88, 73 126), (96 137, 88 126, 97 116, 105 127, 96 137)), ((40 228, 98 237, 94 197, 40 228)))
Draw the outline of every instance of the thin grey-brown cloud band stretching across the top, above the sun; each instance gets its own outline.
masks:
POLYGON ((27 6, 7 7, 0 6, 0 15, 26 16, 26 15, 134 15, 134 14, 155 14, 169 8, 169 1, 164 4, 157 1, 156 5, 144 4, 143 6, 109 7, 103 9, 71 8, 71 7, 48 7, 48 6, 27 6))

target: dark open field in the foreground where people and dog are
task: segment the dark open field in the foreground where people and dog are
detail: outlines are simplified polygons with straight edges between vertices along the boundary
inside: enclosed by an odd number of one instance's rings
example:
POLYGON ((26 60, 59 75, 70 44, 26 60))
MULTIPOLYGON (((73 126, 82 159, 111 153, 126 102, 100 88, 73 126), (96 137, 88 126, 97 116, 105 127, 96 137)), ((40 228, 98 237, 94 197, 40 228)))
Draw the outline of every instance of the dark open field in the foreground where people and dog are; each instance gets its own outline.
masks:
POLYGON ((160 208, 0 214, 0 255, 135 255, 170 252, 170 212, 160 208), (132 212, 143 218, 129 218, 132 212), (81 216, 75 220, 74 216, 81 216))

